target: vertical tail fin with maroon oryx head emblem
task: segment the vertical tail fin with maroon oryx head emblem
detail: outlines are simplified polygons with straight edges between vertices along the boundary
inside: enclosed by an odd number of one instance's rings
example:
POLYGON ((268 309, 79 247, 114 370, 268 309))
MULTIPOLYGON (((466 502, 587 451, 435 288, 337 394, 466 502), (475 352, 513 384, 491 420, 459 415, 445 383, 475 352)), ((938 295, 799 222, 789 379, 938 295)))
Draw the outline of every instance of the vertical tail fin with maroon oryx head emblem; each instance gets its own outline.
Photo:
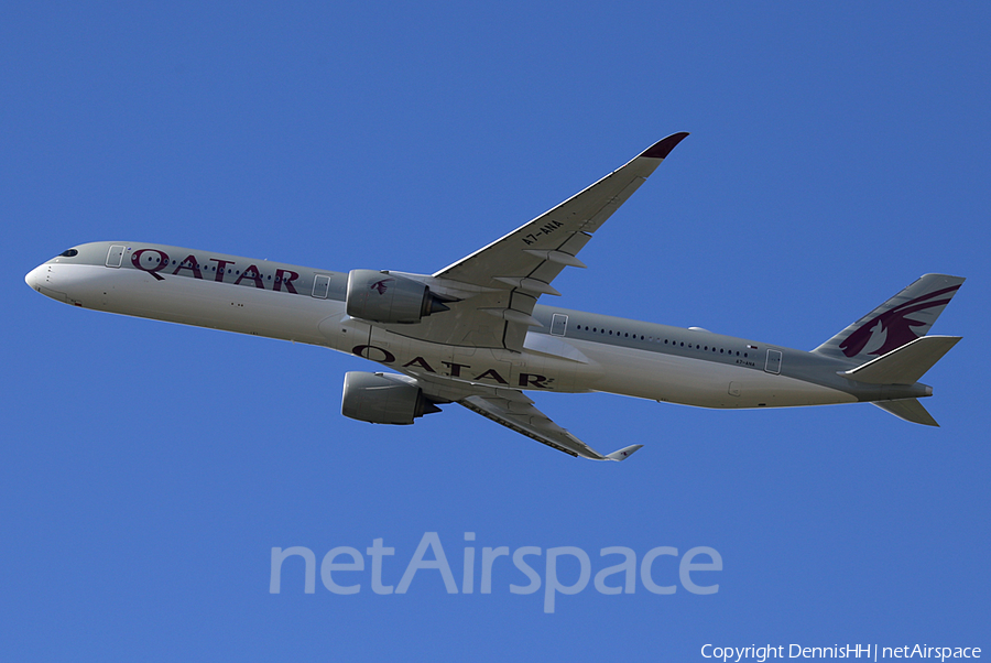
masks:
POLYGON ((896 350, 929 332, 963 281, 925 274, 813 351, 865 363, 896 350))

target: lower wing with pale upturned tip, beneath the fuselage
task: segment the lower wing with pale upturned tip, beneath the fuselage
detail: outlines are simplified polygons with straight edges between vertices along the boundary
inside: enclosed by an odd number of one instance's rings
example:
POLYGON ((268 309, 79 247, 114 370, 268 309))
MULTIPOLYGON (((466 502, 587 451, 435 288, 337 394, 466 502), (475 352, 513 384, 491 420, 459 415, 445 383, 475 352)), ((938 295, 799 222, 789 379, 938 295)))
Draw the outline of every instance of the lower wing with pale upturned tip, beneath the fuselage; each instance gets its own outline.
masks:
POLYGON ((457 382, 443 378, 424 379, 412 376, 402 376, 402 378, 418 385, 428 396, 443 402, 454 401, 511 431, 570 456, 581 456, 593 460, 625 460, 643 446, 634 444, 603 456, 568 433, 566 428, 555 424, 522 391, 500 389, 488 384, 457 382))

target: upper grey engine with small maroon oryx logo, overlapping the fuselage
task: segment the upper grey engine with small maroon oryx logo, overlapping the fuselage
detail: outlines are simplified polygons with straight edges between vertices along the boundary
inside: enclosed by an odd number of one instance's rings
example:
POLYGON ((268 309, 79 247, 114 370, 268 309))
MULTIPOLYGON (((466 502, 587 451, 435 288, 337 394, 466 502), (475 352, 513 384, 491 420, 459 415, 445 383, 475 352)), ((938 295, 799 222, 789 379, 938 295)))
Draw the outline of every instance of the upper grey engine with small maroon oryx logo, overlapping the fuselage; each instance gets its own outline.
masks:
POLYGON ((418 323, 447 311, 431 289, 405 276, 351 270, 348 274, 348 315, 374 323, 418 323))

